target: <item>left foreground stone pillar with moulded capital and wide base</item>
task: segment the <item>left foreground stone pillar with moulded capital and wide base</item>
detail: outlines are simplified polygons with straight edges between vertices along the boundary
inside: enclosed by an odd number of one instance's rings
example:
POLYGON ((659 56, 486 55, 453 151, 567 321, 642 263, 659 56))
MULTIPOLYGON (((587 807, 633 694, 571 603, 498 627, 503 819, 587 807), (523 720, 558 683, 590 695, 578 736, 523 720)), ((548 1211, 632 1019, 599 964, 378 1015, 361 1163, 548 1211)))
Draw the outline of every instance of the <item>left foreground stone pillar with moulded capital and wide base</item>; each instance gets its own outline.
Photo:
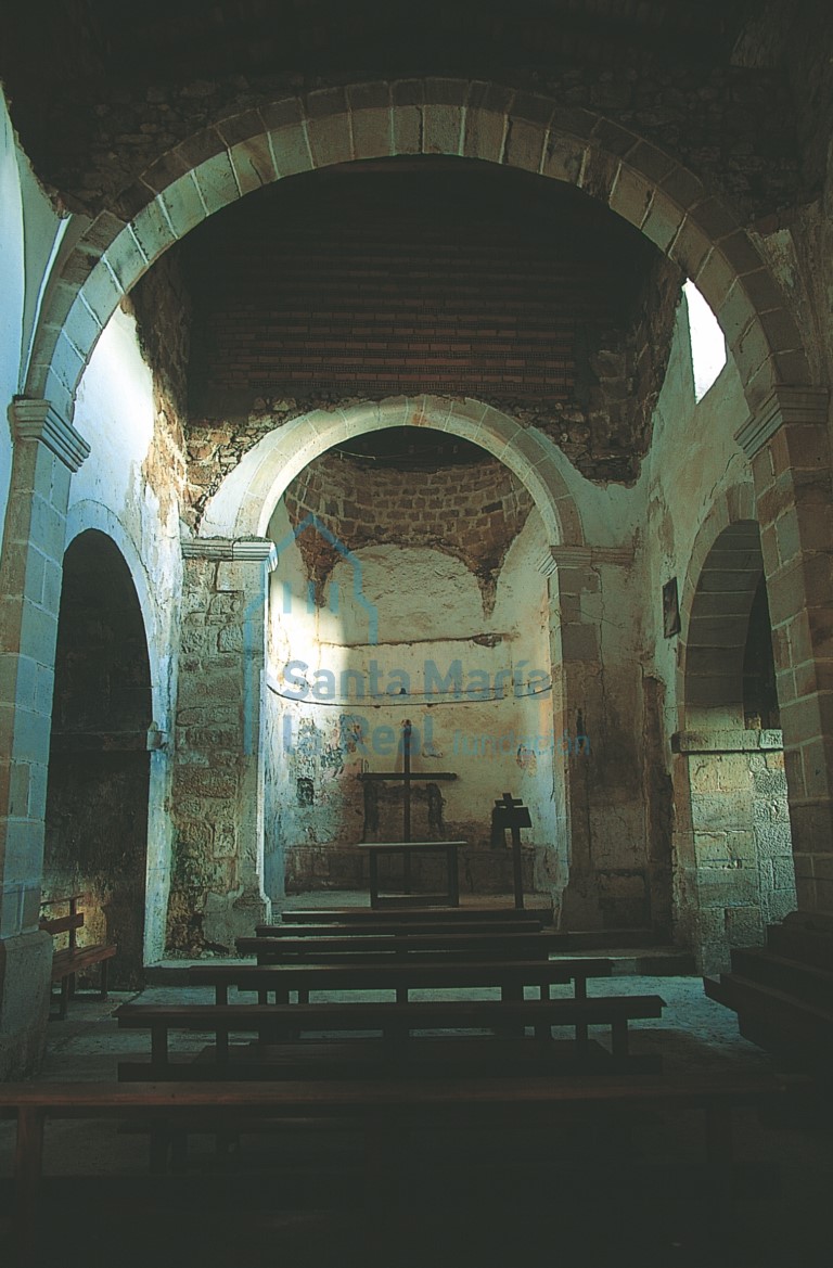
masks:
POLYGON ((46 1045, 52 938, 38 929, 55 645, 70 477, 90 451, 48 401, 15 401, 0 555, 0 1078, 46 1045))

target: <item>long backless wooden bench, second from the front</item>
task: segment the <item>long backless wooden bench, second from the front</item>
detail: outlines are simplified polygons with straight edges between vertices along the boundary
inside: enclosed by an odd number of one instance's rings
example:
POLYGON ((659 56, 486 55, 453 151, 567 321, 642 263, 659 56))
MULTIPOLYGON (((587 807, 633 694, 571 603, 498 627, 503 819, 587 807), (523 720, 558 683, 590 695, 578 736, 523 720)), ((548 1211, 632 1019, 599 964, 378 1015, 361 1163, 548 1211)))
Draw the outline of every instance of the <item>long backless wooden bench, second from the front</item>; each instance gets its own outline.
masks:
MULTIPOLYGON (((171 1030, 204 1031, 214 1035, 216 1077, 228 1075, 229 1035, 257 1035, 261 1044, 275 1044, 302 1033, 331 1031, 380 1032, 389 1044, 407 1044, 413 1031, 533 1028, 538 1040, 552 1040, 553 1027, 571 1027, 577 1046, 586 1042, 588 1026, 610 1026, 616 1060, 628 1058, 628 1022, 659 1017, 659 995, 595 997, 588 999, 483 999, 432 1000, 407 1004, 318 1003, 318 1004, 122 1004, 119 1027, 150 1030, 151 1061, 147 1078, 171 1078, 167 1035, 171 1030)), ((233 1054, 231 1054, 233 1056, 233 1054)), ((233 1075, 231 1075, 233 1077, 233 1075)))

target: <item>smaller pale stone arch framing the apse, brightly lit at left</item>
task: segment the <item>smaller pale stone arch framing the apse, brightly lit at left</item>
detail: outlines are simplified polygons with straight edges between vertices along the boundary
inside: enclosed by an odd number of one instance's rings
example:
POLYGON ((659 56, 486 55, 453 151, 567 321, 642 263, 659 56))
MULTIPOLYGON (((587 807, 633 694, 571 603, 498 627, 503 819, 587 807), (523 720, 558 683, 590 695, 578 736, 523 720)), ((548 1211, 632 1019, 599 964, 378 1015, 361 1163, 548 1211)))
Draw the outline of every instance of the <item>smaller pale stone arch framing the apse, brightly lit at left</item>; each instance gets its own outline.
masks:
POLYGON ((226 477, 208 503, 200 536, 264 536, 281 493, 313 458, 351 436, 401 426, 451 431, 481 445, 526 486, 550 544, 583 543, 578 508, 559 467, 564 459, 555 445, 492 406, 432 396, 314 410, 275 429, 226 477))

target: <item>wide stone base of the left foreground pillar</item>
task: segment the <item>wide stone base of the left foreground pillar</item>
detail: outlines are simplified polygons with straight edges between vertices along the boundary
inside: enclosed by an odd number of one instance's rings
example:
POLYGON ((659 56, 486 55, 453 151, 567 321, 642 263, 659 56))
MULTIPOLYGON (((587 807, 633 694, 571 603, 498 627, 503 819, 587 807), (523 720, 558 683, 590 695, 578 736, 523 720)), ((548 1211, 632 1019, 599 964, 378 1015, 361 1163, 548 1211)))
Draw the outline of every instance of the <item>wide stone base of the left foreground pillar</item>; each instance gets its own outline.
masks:
POLYGON ((23 1078, 42 1064, 51 979, 48 933, 32 929, 0 941, 0 1079, 23 1078))

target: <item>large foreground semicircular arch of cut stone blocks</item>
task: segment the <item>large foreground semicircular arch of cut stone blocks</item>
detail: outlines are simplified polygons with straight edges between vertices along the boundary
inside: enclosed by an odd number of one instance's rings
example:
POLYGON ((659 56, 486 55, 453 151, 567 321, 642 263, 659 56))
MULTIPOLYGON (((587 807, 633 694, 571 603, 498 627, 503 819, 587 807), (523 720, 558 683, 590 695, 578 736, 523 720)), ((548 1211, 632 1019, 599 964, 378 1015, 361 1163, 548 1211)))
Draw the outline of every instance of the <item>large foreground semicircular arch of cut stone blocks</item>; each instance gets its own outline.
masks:
MULTIPOLYGON (((95 342, 150 265, 200 221, 284 176, 393 155, 456 155, 577 185, 640 230, 697 284, 754 412, 809 383, 784 295, 738 218, 688 169, 595 112, 483 81, 321 89, 222 119, 169 151, 81 224, 53 279, 27 392, 71 417, 95 342)), ((68 238, 70 236, 67 236, 68 238)))

